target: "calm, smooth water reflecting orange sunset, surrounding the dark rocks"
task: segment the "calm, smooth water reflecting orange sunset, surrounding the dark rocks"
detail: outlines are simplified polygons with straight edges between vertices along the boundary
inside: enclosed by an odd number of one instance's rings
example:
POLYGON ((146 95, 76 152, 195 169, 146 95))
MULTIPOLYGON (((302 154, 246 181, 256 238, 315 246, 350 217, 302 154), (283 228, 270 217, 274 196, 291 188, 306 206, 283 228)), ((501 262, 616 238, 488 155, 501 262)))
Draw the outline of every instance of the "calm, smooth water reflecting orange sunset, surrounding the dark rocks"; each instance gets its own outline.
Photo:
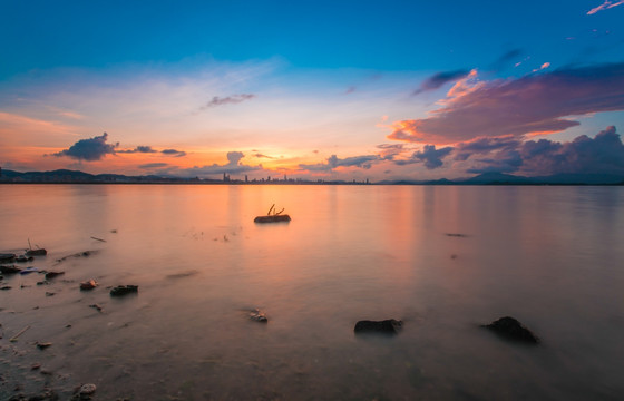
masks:
POLYGON ((65 271, 4 277, 0 398, 624 399, 622 187, 0 189, 0 252, 30 239, 49 254, 23 267, 65 271), (254 224, 272 204, 292 222, 254 224), (479 327, 505 315, 542 344, 479 327), (402 332, 353 334, 384 319, 402 332))

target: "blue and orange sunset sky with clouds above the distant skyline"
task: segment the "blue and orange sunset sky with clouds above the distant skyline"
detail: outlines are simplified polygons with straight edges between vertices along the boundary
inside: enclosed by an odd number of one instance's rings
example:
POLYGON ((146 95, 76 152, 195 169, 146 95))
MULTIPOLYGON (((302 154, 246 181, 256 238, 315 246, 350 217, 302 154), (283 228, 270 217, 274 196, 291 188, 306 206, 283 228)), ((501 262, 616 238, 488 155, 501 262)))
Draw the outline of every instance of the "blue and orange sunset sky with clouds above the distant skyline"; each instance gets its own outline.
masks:
POLYGON ((624 1, 0 6, 6 169, 624 175, 624 1))

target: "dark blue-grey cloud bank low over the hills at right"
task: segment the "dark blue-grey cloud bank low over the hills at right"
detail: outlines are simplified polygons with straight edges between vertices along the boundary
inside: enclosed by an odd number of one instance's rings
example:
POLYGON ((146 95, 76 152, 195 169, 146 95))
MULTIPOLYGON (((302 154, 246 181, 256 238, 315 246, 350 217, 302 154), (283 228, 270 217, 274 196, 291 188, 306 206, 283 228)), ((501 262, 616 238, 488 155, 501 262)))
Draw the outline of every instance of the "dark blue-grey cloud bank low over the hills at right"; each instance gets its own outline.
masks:
POLYGON ((482 139, 458 146, 459 154, 468 150, 487 157, 470 155, 462 159, 472 160, 467 173, 519 172, 529 176, 560 173, 624 174, 624 145, 614 126, 599 131, 594 138, 582 135, 566 143, 499 139, 486 144, 486 139, 482 139), (484 146, 478 146, 478 143, 484 146))

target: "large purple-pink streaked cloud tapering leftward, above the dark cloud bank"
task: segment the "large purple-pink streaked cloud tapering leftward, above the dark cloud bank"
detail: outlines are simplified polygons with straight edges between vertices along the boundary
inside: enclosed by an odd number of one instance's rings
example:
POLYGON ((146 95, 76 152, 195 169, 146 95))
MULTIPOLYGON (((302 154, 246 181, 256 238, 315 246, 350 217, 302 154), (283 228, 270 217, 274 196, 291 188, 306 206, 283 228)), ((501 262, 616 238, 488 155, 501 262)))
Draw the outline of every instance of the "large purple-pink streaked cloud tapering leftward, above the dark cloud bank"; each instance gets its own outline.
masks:
POLYGON ((568 67, 518 79, 479 82, 445 100, 429 117, 396 121, 389 139, 455 144, 477 137, 550 134, 566 119, 624 110, 624 62, 568 67))

